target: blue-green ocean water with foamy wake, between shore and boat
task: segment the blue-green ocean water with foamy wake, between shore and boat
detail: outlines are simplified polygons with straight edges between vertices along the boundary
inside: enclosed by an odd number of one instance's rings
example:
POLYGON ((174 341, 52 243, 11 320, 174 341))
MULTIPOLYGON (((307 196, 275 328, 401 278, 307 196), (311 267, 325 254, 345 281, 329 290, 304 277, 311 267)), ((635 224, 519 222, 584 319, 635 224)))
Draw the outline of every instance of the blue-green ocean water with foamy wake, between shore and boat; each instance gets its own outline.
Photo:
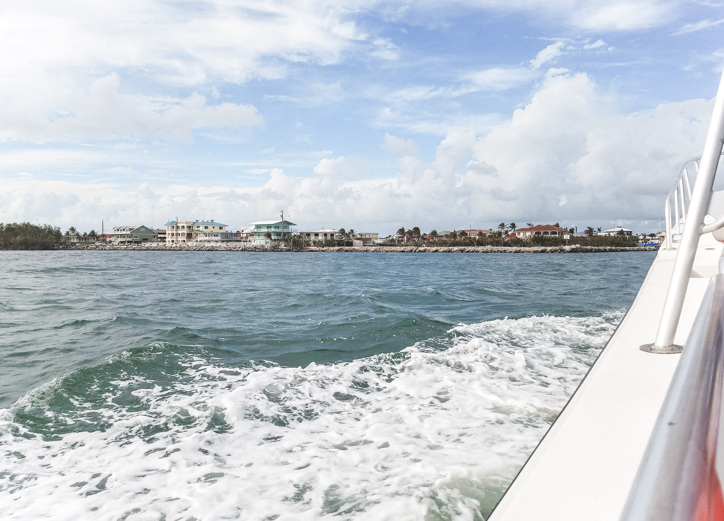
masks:
POLYGON ((655 253, 0 252, 8 520, 481 520, 655 253))

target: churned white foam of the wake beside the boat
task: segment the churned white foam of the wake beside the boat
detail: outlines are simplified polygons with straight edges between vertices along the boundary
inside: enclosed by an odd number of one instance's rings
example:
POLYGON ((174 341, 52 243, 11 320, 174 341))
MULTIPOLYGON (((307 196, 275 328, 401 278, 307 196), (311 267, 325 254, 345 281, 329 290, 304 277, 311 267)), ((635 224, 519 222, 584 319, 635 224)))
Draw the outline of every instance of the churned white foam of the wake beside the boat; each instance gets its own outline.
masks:
MULTIPOLYGON (((132 391, 143 405, 135 412, 112 403, 113 393, 90 407, 105 431, 43 441, 16 414, 49 399, 54 381, 0 415, 3 517, 480 520, 615 320, 460 325, 446 349, 422 342, 307 368, 230 370, 190 357, 185 379, 132 391)), ((164 349, 152 344, 148 355, 164 349)), ((110 363, 122 357, 131 356, 110 363)), ((118 392, 134 383, 138 376, 113 382, 118 392)), ((72 412, 61 420, 80 421, 72 412)))

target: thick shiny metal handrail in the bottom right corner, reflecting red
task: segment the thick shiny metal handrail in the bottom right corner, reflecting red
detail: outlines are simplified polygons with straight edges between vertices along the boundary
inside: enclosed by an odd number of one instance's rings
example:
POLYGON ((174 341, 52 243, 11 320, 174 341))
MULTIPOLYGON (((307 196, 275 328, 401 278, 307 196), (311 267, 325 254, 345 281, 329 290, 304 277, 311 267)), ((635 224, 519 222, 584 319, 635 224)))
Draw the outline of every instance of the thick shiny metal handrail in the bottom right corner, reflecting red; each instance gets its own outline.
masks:
POLYGON ((620 521, 717 519, 724 375, 724 275, 712 277, 620 521))

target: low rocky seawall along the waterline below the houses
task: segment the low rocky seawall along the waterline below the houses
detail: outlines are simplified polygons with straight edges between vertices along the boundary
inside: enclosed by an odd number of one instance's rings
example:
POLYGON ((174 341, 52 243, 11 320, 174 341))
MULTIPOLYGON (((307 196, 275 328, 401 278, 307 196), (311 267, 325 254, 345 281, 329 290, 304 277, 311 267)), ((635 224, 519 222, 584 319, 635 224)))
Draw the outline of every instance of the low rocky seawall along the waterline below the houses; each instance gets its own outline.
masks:
MULTIPOLYGON (((225 252, 288 252, 287 248, 269 246, 201 246, 201 245, 138 245, 138 246, 63 246, 60 250, 118 250, 118 251, 225 251, 225 252)), ((613 253, 656 251, 655 247, 613 246, 337 246, 308 247, 294 253, 613 253)))

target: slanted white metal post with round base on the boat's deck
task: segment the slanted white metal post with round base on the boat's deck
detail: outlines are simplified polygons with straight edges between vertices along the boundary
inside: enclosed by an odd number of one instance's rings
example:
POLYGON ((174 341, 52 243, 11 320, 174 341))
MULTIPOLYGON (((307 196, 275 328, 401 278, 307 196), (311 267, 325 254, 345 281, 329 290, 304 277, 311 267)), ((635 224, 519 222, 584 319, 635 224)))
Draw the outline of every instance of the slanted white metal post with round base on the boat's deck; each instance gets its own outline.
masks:
MULTIPOLYGON (((704 141, 704 151, 699 164, 699 173, 694 182, 694 190, 691 192, 689 219, 686 219, 683 235, 679 238, 678 251, 676 252, 669 289, 666 293, 659 330, 654 344, 644 344, 641 346, 641 350, 655 353, 681 352, 681 346, 674 345, 674 335, 681 317, 686 288, 689 286, 689 276, 691 276, 691 268, 694 266, 694 257, 696 256, 696 247, 699 245, 704 216, 709 208, 712 186, 719 165, 719 157, 722 153, 723 140, 724 73, 717 89, 712 121, 709 124, 709 132, 707 132, 707 139, 704 141)), ((678 221, 676 225, 678 226, 678 221)))

